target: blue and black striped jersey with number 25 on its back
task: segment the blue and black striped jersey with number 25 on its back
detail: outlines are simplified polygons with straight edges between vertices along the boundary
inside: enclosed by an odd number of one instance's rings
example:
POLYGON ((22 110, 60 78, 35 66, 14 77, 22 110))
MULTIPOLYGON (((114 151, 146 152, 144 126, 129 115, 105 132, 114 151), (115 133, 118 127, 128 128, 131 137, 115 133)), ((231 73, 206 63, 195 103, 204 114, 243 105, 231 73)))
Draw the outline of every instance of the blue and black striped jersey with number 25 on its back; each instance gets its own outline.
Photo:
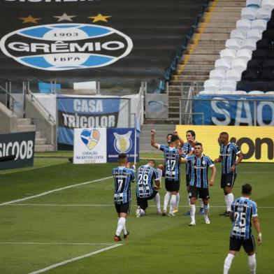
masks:
POLYGON ((257 217, 257 204, 248 198, 240 197, 233 201, 231 210, 233 225, 231 237, 236 239, 249 239, 251 237, 251 220, 257 217))

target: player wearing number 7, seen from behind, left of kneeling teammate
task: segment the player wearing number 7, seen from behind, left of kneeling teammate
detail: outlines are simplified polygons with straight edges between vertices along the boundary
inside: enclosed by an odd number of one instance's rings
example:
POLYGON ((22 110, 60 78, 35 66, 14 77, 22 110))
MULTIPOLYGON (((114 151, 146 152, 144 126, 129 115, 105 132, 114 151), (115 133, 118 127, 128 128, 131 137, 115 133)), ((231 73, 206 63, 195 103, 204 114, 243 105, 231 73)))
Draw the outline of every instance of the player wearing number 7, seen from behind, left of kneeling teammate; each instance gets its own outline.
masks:
POLYGON ((129 214, 131 203, 131 182, 134 182, 134 169, 128 168, 127 154, 119 154, 119 166, 113 168, 114 178, 114 204, 118 214, 117 230, 114 240, 120 241, 120 233, 123 231, 124 239, 128 238, 129 231, 126 229, 126 218, 129 214))

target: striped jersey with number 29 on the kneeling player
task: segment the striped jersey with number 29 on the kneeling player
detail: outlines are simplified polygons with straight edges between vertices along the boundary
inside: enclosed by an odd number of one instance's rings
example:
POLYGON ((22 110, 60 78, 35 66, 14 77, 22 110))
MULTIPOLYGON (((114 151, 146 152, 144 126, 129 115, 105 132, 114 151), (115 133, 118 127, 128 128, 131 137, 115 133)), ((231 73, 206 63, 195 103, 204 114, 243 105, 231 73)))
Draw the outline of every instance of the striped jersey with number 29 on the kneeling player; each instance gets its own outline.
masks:
POLYGON ((153 194, 153 180, 159 180, 158 172, 152 166, 140 166, 137 171, 136 196, 147 198, 153 194))

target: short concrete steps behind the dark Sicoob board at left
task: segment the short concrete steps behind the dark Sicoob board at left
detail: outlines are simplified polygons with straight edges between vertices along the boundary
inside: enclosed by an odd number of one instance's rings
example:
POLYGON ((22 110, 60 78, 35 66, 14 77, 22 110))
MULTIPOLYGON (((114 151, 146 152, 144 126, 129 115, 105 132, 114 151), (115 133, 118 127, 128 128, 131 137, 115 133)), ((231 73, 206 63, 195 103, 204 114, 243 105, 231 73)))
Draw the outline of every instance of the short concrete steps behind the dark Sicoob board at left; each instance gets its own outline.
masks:
MULTIPOLYGON (((36 126, 31 124, 30 118, 20 118, 17 119, 17 131, 24 132, 24 131, 36 131, 36 126)), ((35 135, 35 152, 46 152, 46 151, 53 151, 53 145, 49 145, 46 143, 46 138, 41 137, 41 131, 36 131, 35 135)))

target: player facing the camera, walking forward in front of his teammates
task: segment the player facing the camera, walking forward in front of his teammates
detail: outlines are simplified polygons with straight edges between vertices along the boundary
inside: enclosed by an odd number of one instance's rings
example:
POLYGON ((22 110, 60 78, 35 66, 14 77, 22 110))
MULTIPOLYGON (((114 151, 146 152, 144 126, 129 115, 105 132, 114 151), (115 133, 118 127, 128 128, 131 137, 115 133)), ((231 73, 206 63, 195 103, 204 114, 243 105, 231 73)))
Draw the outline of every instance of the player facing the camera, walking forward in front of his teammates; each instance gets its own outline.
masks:
POLYGON ((201 143, 195 143, 194 155, 187 158, 182 158, 183 163, 189 164, 191 168, 191 175, 189 178, 189 198, 190 198, 190 218, 191 222, 189 226, 195 226, 195 203, 198 196, 203 199, 204 213, 203 217, 206 224, 210 224, 208 219, 209 211, 209 192, 208 185, 212 187, 214 185, 216 168, 212 163, 210 157, 203 154, 203 145, 201 143), (208 168, 211 168, 212 175, 208 181, 208 168))

